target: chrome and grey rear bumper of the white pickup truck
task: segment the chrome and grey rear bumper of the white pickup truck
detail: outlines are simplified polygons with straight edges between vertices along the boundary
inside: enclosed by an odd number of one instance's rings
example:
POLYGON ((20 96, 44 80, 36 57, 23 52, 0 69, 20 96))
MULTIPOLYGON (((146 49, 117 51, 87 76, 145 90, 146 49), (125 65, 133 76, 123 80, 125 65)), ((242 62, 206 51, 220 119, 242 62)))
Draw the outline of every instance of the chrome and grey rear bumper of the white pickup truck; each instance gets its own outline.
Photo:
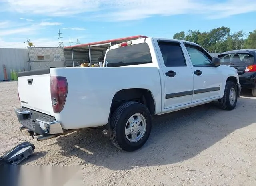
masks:
POLYGON ((45 115, 27 108, 15 109, 20 124, 39 135, 63 133, 60 122, 52 116, 45 115))

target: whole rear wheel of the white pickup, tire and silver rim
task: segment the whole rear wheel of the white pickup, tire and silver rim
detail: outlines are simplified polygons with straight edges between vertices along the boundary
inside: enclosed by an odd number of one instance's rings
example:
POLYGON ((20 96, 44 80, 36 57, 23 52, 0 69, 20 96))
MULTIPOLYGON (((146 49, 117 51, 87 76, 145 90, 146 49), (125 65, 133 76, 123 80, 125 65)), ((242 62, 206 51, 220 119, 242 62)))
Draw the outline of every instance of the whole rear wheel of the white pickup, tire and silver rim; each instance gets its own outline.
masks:
POLYGON ((114 111, 110 123, 110 139, 126 151, 141 148, 150 135, 151 115, 142 103, 129 101, 114 111))

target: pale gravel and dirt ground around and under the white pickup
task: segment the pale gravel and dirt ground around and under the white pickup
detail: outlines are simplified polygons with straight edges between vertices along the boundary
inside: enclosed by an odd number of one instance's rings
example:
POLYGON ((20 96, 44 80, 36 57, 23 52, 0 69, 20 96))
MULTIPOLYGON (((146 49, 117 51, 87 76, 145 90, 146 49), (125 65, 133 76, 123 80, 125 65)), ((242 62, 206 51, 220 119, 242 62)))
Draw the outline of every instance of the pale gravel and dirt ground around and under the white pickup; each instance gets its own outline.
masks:
POLYGON ((256 185, 256 98, 247 92, 233 111, 210 103, 157 117, 145 146, 123 152, 98 130, 25 136, 16 84, 0 83, 0 155, 28 140, 36 149, 22 165, 80 165, 86 185, 256 185))

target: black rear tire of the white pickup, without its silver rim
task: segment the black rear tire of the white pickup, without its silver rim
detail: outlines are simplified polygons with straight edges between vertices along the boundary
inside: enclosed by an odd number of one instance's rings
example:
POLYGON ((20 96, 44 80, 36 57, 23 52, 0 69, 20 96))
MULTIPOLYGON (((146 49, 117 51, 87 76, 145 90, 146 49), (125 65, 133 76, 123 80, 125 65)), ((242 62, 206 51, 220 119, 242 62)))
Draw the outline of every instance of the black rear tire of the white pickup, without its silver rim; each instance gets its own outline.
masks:
POLYGON ((151 132, 151 123, 151 114, 145 105, 133 101, 123 103, 111 116, 110 139, 117 148, 122 150, 138 150, 148 140, 151 132), (138 142, 130 142, 125 135, 126 123, 128 122, 128 119, 136 113, 143 115, 146 119, 146 131, 138 142))

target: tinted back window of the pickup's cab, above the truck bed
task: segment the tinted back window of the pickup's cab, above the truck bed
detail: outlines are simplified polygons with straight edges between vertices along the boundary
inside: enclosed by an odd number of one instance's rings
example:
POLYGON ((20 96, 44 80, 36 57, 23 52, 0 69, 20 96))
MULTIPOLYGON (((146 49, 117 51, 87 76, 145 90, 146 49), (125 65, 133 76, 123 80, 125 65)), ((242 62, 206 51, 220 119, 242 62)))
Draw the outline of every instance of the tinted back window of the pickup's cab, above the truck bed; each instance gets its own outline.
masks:
POLYGON ((146 63, 152 63, 147 43, 119 47, 106 53, 105 67, 121 67, 146 63))

